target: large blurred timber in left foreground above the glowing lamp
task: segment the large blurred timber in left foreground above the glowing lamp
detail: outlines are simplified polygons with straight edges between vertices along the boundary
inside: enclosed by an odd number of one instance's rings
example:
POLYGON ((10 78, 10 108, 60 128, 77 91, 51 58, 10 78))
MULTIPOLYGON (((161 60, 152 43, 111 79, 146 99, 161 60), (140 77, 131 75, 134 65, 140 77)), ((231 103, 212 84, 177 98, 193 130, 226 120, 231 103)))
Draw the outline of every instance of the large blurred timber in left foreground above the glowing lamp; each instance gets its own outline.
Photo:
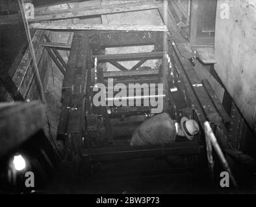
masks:
POLYGON ((0 104, 0 157, 18 147, 47 124, 41 102, 0 104))

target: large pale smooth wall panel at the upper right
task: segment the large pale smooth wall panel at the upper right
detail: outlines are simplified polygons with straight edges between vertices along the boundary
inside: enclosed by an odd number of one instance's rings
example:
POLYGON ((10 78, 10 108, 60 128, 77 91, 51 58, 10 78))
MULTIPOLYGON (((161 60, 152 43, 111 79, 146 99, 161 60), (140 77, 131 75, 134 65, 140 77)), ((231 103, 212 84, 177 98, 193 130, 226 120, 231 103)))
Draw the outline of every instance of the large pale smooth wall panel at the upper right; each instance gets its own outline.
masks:
POLYGON ((256 131, 256 1, 219 0, 215 70, 256 131))

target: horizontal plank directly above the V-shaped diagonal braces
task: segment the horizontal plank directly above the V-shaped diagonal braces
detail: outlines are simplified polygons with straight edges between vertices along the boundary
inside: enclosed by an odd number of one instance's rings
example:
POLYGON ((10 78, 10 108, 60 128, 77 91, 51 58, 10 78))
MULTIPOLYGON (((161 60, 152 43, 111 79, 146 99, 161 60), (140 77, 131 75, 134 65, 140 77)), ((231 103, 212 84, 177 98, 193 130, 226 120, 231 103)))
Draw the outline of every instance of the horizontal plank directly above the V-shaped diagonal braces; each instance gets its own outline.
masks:
POLYGON ((98 61, 123 61, 123 60, 140 60, 141 58, 147 59, 161 59, 164 56, 164 52, 138 52, 138 53, 127 53, 127 54, 105 54, 92 56, 97 57, 98 61))

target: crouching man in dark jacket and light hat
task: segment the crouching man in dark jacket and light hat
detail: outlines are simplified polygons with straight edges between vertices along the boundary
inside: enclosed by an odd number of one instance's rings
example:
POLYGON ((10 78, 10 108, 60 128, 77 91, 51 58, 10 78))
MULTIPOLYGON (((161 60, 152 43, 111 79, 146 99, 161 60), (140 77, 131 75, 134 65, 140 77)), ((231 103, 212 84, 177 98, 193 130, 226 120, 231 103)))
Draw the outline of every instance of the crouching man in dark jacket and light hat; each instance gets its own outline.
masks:
POLYGON ((168 113, 157 114, 144 121, 135 129, 131 138, 131 146, 168 144, 175 142, 176 136, 186 136, 190 141, 199 132, 198 123, 195 120, 181 118, 181 123, 172 120, 168 113))

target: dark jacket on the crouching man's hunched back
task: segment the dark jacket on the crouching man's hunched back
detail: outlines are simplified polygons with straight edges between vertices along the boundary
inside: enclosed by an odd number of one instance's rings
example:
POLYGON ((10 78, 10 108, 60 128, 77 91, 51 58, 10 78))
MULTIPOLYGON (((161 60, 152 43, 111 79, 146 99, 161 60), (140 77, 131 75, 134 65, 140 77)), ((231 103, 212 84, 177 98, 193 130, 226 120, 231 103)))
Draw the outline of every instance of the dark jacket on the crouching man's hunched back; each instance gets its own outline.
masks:
POLYGON ((175 122, 167 113, 157 114, 149 118, 135 129, 131 146, 174 142, 177 135, 175 122))

